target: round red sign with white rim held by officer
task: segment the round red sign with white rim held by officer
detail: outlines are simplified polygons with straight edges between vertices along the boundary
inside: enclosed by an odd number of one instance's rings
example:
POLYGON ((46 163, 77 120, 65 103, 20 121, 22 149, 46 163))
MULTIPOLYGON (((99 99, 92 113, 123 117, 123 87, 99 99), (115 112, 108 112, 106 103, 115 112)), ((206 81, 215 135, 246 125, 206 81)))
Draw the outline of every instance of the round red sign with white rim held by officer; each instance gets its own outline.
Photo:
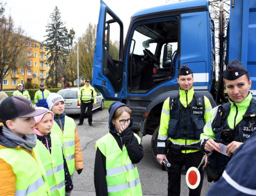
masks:
POLYGON ((188 187, 191 189, 196 189, 200 184, 200 173, 197 168, 191 167, 186 173, 186 182, 188 187))

